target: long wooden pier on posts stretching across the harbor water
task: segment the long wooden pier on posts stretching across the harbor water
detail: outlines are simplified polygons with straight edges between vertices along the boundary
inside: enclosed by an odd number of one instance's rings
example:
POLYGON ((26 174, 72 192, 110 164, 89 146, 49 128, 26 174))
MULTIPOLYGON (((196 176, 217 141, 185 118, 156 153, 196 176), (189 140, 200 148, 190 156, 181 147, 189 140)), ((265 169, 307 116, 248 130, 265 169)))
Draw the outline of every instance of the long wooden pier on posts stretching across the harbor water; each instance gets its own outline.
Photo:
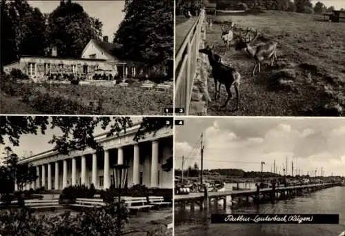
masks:
POLYGON ((296 196, 301 196, 307 193, 313 193, 324 188, 331 188, 335 186, 342 186, 341 183, 327 183, 327 184, 309 184, 299 186, 287 186, 277 188, 262 188, 253 190, 228 190, 224 192, 210 192, 207 189, 204 193, 190 193, 189 195, 175 195, 175 206, 186 208, 190 204, 190 211, 195 210, 195 204, 199 206, 200 210, 208 209, 212 203, 218 207, 219 201, 222 202, 223 209, 226 209, 228 203, 226 197, 231 197, 232 205, 242 204, 244 202, 253 202, 257 205, 270 201, 275 202, 281 199, 289 199, 296 196))

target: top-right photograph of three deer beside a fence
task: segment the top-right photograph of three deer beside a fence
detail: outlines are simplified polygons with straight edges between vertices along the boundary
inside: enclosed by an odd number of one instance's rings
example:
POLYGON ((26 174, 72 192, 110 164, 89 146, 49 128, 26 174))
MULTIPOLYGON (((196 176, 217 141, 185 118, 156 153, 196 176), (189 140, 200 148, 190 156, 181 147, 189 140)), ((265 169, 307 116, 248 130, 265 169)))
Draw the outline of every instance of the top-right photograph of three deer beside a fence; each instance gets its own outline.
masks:
POLYGON ((345 115, 344 0, 175 1, 176 115, 345 115))

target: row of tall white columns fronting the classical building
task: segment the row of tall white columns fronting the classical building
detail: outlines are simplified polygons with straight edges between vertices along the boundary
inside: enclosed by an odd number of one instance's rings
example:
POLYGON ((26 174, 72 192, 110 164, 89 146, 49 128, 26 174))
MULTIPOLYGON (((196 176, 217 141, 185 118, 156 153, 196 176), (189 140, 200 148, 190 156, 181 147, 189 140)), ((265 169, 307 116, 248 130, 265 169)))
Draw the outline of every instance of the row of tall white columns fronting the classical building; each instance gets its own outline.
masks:
MULTIPOLYGON (((139 146, 135 145, 133 150, 133 184, 139 184, 139 146)), ((124 164, 124 151, 122 148, 117 149, 117 164, 124 164)), ((151 155, 151 187, 158 186, 158 141, 152 141, 152 155, 151 155)), ((46 186, 46 166, 41 166, 41 173, 39 166, 36 166, 37 181, 36 188, 46 186), (41 174, 41 175, 40 175, 41 174), (41 179, 41 181, 40 181, 41 179)), ((62 175, 62 188, 66 188, 67 184, 67 160, 63 160, 63 175, 62 175)), ((109 152, 104 150, 104 173, 103 173, 103 188, 110 187, 110 165, 109 165, 109 152)), ((72 186, 76 184, 77 179, 77 160, 72 157, 72 186)), ((86 156, 81 156, 81 184, 86 184, 86 156)), ((97 155, 92 154, 92 184, 97 184, 97 155)), ((55 189, 59 189, 59 164, 55 161, 55 189)), ((52 189, 52 166, 48 163, 48 186, 47 190, 52 189)))

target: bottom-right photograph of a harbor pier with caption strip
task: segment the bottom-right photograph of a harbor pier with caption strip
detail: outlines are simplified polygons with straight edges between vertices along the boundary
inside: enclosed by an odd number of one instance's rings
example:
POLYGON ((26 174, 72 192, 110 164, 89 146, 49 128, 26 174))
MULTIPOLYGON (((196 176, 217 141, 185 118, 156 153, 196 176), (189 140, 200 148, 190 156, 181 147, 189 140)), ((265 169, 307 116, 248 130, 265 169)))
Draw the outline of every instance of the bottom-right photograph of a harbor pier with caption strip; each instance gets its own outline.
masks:
POLYGON ((345 119, 184 117, 175 235, 345 234, 345 119))

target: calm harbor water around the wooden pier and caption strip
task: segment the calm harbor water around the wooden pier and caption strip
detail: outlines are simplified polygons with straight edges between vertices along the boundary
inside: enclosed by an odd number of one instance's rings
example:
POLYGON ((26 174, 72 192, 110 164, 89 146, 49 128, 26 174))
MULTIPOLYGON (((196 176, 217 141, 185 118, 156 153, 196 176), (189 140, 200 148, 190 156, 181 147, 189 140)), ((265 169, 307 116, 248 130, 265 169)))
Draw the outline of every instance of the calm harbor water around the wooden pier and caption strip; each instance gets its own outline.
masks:
MULTIPOLYGON (((231 190, 232 186, 234 185, 227 185, 227 190, 231 190)), ((259 207, 250 204, 239 208, 232 209, 227 206, 226 210, 221 209, 220 206, 217 213, 339 214, 340 224, 210 224, 210 215, 200 212, 199 208, 195 208, 195 213, 191 215, 188 208, 182 210, 175 206, 175 235, 338 236, 345 230, 345 187, 326 188, 303 197, 277 201, 275 204, 261 204, 259 207)), ((211 208, 210 213, 215 213, 215 208, 211 208)))

